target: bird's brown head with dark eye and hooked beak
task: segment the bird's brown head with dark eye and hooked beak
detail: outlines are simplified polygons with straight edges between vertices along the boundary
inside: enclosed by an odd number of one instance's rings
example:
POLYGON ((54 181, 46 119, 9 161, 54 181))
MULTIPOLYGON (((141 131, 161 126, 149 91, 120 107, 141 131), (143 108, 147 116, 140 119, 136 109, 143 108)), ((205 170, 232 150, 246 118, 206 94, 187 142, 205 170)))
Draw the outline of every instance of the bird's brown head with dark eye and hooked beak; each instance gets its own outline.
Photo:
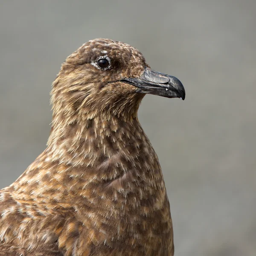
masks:
POLYGON ((53 82, 53 114, 93 118, 102 115, 136 116, 146 93, 185 98, 174 76, 151 70, 134 47, 109 39, 87 42, 67 57, 53 82))

